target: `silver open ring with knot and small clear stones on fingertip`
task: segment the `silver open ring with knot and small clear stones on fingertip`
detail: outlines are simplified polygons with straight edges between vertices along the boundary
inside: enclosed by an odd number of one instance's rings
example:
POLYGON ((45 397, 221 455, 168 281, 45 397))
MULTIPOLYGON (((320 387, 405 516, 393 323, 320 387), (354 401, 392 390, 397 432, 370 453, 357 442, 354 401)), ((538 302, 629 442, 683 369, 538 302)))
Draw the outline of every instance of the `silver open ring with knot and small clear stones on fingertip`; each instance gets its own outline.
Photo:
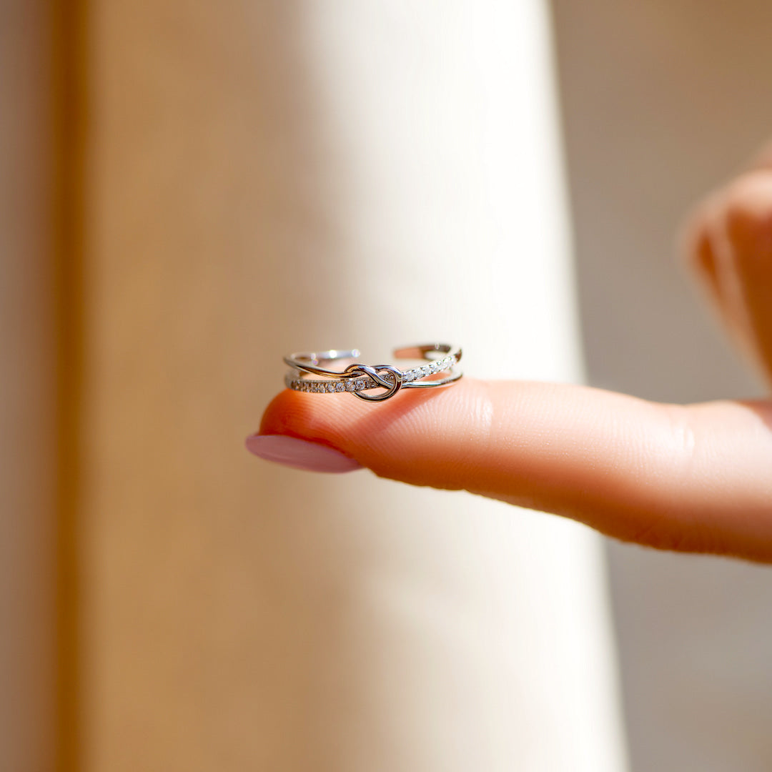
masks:
POLYGON ((392 364, 361 364, 354 362, 344 370, 330 370, 327 364, 344 360, 355 360, 360 356, 356 348, 342 351, 306 352, 289 354, 284 357, 289 367, 284 382, 287 388, 295 391, 309 391, 313 394, 332 394, 337 391, 350 391, 354 397, 368 402, 381 402, 394 396, 403 388, 442 388, 450 386, 462 377, 462 372, 455 370, 461 359, 461 349, 444 343, 420 344, 394 350, 397 359, 424 359, 429 364, 400 370, 392 364), (442 374, 442 378, 424 380, 429 376, 442 374), (310 375, 323 378, 313 379, 310 375), (378 394, 366 394, 372 389, 384 389, 378 394))

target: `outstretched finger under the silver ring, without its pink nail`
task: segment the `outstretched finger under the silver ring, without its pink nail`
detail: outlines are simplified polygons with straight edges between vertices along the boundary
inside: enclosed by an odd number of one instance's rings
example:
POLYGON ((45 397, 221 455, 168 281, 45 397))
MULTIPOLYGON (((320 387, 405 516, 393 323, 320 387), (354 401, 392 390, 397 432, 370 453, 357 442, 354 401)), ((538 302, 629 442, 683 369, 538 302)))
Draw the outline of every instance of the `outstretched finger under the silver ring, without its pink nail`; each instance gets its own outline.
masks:
POLYGON ((466 489, 622 540, 772 560, 772 405, 656 405, 465 379, 379 405, 284 391, 260 431, 332 447, 378 476, 466 489))

